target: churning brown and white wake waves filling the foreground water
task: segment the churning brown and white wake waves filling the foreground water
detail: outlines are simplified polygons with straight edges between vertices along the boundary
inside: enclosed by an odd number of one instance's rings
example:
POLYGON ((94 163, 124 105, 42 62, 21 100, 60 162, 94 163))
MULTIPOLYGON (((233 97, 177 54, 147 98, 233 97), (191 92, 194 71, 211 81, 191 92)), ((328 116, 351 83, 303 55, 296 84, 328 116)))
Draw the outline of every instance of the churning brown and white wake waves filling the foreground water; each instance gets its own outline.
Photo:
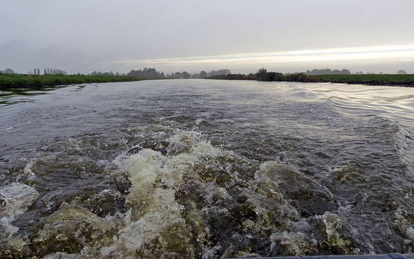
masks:
MULTIPOLYGON (((160 131, 152 134, 164 136, 160 131)), ((64 202, 33 233, 26 249, 48 258, 216 258, 354 251, 350 237, 341 234, 341 220, 330 212, 337 208, 335 198, 317 181, 275 161, 255 170, 251 161, 214 147, 199 132, 179 130, 164 138, 168 143, 164 154, 141 148, 113 161, 117 168, 107 177, 127 175, 131 186, 124 196, 124 213, 105 216, 77 198, 64 202), (255 170, 254 175, 246 170, 255 170)), ((26 166, 26 171, 36 163, 26 166)), ((23 212, 39 194, 17 185, 27 190, 24 204, 16 205, 23 212)), ((104 207, 107 199, 117 195, 122 194, 103 190, 87 200, 104 207)), ((7 240, 12 246, 12 240, 7 240)))

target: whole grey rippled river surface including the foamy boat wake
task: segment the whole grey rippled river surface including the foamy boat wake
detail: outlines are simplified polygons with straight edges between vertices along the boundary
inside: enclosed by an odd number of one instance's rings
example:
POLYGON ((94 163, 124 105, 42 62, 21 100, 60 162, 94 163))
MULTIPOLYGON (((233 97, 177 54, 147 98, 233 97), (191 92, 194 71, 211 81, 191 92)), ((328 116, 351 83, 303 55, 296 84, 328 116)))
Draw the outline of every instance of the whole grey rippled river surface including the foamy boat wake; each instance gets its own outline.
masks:
POLYGON ((0 91, 0 258, 414 251, 414 89, 0 91))

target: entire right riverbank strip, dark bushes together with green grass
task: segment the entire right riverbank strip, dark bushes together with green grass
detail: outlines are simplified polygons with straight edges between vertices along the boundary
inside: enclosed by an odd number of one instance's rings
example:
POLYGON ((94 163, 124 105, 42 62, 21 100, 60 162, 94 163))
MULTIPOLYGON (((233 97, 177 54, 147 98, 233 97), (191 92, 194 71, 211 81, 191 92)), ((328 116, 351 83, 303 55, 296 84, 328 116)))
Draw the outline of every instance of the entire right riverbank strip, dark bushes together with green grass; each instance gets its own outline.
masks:
POLYGON ((370 85, 399 85, 414 87, 414 74, 411 75, 307 75, 306 73, 277 73, 259 69, 256 73, 248 75, 228 74, 214 75, 208 79, 223 80, 258 80, 258 81, 286 81, 286 82, 336 82, 345 84, 370 84, 370 85))

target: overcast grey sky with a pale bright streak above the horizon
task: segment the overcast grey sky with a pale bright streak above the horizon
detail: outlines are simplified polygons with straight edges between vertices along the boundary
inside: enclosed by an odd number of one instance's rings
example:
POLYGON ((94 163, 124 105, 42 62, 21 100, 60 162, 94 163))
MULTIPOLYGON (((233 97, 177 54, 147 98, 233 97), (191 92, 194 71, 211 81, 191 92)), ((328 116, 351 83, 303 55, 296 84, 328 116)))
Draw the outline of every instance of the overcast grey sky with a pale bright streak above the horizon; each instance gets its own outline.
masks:
POLYGON ((0 0, 0 69, 414 73, 412 0, 0 0))

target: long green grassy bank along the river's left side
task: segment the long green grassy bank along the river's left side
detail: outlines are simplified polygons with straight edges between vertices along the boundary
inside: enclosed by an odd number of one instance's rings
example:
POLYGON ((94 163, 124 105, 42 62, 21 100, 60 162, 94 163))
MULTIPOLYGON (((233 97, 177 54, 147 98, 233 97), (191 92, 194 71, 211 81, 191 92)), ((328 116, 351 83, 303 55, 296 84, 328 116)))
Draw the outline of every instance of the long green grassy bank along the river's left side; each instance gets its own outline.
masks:
POLYGON ((136 76, 116 75, 25 75, 0 74, 0 89, 14 87, 42 87, 61 84, 83 84, 93 82, 130 82, 140 81, 144 78, 136 76))

